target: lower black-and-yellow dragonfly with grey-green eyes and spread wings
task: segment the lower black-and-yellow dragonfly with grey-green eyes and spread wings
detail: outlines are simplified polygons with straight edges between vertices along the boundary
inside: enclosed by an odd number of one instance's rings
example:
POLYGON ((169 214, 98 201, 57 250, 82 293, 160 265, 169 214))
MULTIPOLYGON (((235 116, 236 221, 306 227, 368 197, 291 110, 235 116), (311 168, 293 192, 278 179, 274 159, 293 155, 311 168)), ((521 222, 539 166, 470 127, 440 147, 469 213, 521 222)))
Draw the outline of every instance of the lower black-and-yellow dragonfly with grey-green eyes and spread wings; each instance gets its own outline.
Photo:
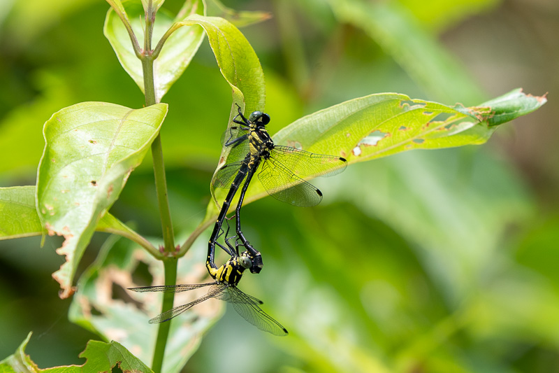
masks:
MULTIPOLYGON (((229 230, 227 230, 226 234, 228 234, 228 232, 229 230)), ((252 260, 250 260, 249 253, 247 251, 243 251, 239 255, 238 244, 236 244, 236 241, 235 248, 233 248, 233 246, 229 243, 229 239, 231 238, 232 237, 225 239, 228 247, 217 243, 217 245, 223 248, 224 251, 231 254, 231 259, 227 260, 222 267, 212 267, 212 265, 210 265, 210 253, 208 253, 206 267, 208 267, 208 272, 210 272, 212 279, 215 280, 214 282, 197 283, 193 285, 144 286, 140 288, 128 289, 138 293, 181 293, 187 290, 205 288, 206 286, 210 287, 208 293, 203 295, 203 297, 199 297, 197 300, 183 304, 182 306, 177 306, 173 309, 165 311, 159 316, 155 316, 149 321, 150 324, 164 323, 165 321, 169 321, 170 319, 182 314, 184 311, 187 311, 187 309, 190 309, 198 303, 204 302, 210 298, 216 298, 233 304, 235 311, 237 311, 240 316, 245 318, 246 321, 256 326, 256 328, 278 336, 288 334, 286 328, 275 321, 275 319, 270 315, 266 314, 266 312, 262 311, 259 307, 259 304, 263 304, 261 300, 242 292, 242 290, 237 287, 242 277, 242 272, 252 266, 252 260)))

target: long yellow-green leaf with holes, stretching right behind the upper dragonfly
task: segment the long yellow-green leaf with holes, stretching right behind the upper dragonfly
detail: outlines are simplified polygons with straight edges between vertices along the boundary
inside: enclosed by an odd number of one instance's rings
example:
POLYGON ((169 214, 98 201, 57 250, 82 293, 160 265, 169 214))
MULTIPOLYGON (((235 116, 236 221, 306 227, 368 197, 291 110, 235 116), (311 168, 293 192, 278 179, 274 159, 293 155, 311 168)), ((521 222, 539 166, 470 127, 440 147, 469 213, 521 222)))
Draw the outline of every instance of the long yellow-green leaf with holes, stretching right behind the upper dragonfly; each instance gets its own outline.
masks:
MULTIPOLYGON (((312 153, 338 155, 349 163, 363 162, 412 149, 481 144, 497 125, 535 111, 545 102, 545 97, 520 90, 472 108, 412 100, 404 94, 371 94, 300 118, 273 140, 312 153)), ((220 192, 218 200, 226 193, 220 192)), ((266 195, 261 183, 251 183, 245 201, 266 195)), ((213 220, 215 213, 210 202, 204 221, 213 220)))

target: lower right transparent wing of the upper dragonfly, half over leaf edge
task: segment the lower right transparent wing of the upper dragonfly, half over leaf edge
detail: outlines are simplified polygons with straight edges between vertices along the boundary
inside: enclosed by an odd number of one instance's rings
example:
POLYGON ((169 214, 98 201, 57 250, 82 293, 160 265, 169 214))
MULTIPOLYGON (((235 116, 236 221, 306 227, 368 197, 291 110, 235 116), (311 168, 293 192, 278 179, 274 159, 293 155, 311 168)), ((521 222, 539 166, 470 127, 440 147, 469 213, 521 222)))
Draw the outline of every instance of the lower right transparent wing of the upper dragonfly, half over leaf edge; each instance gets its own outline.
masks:
POLYGON ((269 195, 293 206, 316 206, 322 200, 322 192, 317 187, 293 174, 275 158, 263 162, 258 178, 269 195))

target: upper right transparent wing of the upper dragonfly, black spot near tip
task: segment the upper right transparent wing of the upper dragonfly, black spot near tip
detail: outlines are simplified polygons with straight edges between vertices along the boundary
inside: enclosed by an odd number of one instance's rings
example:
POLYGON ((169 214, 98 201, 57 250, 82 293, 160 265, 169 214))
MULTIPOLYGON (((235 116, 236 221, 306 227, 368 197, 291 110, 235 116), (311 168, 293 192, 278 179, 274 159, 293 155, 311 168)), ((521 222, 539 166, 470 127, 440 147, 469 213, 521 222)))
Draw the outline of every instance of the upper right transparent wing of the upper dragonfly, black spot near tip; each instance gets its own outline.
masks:
POLYGON ((342 157, 314 154, 291 146, 274 146, 270 154, 293 173, 304 176, 334 176, 347 167, 347 160, 342 157))

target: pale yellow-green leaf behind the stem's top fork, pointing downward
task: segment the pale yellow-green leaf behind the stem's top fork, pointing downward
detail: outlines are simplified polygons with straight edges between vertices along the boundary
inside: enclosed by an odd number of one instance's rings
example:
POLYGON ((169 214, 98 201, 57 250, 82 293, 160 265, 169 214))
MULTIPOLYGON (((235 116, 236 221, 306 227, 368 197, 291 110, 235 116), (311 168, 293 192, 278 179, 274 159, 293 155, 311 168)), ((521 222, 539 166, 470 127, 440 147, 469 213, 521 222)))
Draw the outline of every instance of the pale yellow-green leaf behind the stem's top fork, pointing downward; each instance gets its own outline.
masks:
MULTIPOLYGON (((127 10, 130 15, 131 27, 135 35, 143 35, 144 16, 143 9, 140 6, 131 4, 127 10)), ((187 1, 180 13, 180 20, 191 14, 203 14, 204 8, 201 0, 187 1)), ((164 36, 169 27, 176 22, 173 17, 164 11, 157 13, 156 22, 154 24, 152 41, 155 45, 161 36, 164 36)), ((144 92, 143 69, 140 59, 134 52, 130 36, 126 27, 122 23, 114 10, 109 10, 105 20, 103 32, 108 38, 112 49, 119 59, 124 70, 136 82, 140 90, 144 92)), ((155 96, 157 102, 168 92, 170 86, 182 75, 184 69, 189 65, 192 57, 196 54, 204 37, 203 30, 197 26, 182 27, 171 34, 159 56, 154 61, 154 82, 155 96)), ((143 45, 142 42, 140 42, 143 45)))

